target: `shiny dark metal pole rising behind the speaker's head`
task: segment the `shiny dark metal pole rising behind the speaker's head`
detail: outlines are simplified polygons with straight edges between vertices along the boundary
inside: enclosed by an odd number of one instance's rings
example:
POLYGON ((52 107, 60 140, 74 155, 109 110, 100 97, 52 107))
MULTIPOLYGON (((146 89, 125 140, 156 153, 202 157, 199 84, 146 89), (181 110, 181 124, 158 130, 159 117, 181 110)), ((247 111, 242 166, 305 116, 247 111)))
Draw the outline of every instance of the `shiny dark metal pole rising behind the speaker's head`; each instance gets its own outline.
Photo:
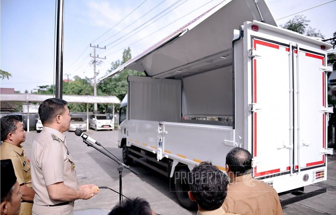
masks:
POLYGON ((64 26, 64 0, 57 0, 57 27, 56 27, 56 98, 62 98, 63 77, 63 28, 64 26))

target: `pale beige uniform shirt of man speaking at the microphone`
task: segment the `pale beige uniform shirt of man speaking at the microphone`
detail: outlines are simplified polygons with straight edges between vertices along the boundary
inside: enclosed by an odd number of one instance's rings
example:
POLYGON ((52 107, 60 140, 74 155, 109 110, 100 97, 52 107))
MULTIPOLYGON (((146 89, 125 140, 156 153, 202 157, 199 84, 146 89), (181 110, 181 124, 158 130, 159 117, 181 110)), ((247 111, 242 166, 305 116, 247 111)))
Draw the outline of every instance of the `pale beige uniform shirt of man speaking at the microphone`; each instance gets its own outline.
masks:
POLYGON ((64 182, 78 190, 78 180, 73 158, 68 150, 65 136, 50 127, 43 126, 34 139, 31 155, 34 205, 48 206, 62 203, 49 197, 47 186, 64 182))

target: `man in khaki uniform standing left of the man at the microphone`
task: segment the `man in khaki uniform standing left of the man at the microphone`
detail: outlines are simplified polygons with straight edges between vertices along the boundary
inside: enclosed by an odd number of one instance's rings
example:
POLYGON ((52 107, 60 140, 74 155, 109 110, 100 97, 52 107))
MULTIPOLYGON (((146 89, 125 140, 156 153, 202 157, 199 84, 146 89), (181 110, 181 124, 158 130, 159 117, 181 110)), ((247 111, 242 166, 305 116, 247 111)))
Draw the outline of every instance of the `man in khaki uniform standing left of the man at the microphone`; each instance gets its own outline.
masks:
POLYGON ((17 182, 22 193, 20 215, 31 215, 35 192, 32 189, 29 159, 25 156, 25 148, 21 146, 26 139, 26 131, 18 116, 1 117, 1 160, 11 159, 17 182))

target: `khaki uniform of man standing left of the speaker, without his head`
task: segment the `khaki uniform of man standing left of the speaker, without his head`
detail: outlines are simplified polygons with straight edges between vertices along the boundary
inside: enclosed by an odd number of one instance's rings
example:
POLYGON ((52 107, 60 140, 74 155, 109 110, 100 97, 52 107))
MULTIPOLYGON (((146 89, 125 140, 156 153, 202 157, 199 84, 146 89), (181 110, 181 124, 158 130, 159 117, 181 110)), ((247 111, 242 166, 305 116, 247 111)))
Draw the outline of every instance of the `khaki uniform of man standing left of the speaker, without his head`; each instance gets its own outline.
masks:
MULTIPOLYGON (((11 159, 14 167, 17 182, 26 184, 32 188, 32 178, 30 174, 30 163, 25 156, 25 148, 23 146, 15 146, 13 144, 3 142, 0 147, 1 160, 11 159)), ((31 215, 33 204, 23 202, 20 206, 20 215, 31 215)))

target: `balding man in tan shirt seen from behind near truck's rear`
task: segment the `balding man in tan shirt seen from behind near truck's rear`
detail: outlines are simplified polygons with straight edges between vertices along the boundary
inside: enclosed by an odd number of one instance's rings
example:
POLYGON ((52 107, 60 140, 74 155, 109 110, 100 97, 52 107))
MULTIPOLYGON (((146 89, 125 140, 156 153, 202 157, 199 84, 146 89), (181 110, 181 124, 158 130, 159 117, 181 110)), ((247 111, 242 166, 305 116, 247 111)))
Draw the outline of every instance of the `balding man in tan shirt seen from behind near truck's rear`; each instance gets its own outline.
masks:
POLYGON ((265 182, 252 178, 252 155, 235 147, 226 155, 229 189, 223 204, 225 211, 245 215, 283 215, 278 193, 265 182))

